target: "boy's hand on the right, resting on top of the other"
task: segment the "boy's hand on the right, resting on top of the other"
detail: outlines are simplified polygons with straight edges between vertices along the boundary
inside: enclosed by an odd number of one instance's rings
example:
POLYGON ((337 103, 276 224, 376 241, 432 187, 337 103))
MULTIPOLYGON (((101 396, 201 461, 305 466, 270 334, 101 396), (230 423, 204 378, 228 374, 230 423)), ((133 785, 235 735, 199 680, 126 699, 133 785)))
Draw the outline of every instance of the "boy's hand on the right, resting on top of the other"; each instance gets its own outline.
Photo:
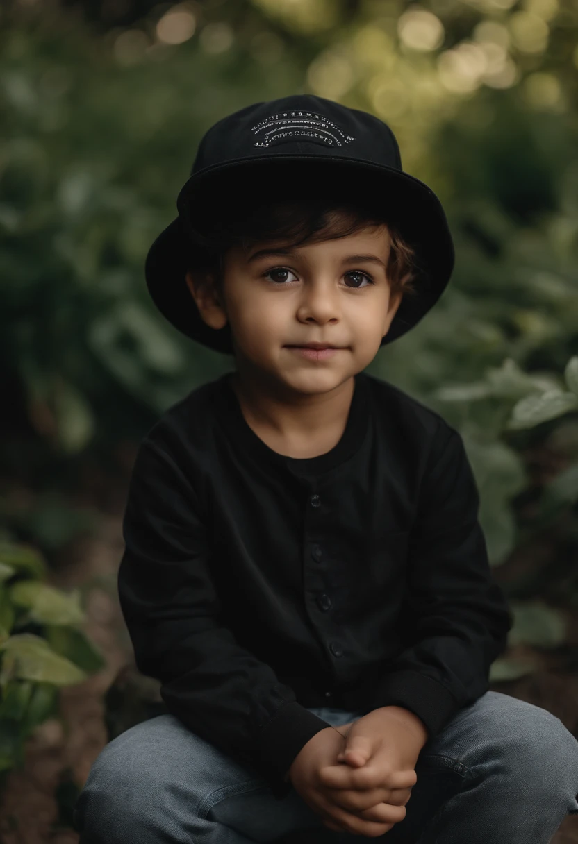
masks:
MULTIPOLYGON (((321 782, 335 789, 327 797, 343 809, 352 809, 355 803, 352 804, 351 795, 359 789, 366 798, 379 794, 378 799, 390 806, 405 806, 411 786, 417 782, 414 768, 427 738, 423 723, 400 706, 384 706, 369 712, 352 723, 346 746, 336 757, 338 764, 330 763, 319 771, 321 782), (343 761, 346 766, 339 764, 343 761), (401 786, 404 776, 406 782, 401 786)), ((382 807, 383 803, 362 811, 360 817, 379 820, 382 807)), ((403 818, 395 823, 399 820, 403 818)), ((331 820, 324 820, 324 825, 333 830, 343 829, 331 820)))

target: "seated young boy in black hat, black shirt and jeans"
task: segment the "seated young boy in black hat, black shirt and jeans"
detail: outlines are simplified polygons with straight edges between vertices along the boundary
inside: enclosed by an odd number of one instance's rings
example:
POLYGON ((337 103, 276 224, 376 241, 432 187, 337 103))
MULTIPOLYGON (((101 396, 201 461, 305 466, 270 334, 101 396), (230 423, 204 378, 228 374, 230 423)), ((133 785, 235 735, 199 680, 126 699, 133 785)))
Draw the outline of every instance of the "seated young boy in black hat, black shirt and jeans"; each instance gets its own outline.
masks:
POLYGON ((118 587, 166 714, 95 761, 81 844, 546 844, 578 743, 488 691, 512 617, 461 436, 364 373, 450 279, 438 198, 296 95, 212 127, 177 208, 150 294, 235 365, 139 448, 118 587))

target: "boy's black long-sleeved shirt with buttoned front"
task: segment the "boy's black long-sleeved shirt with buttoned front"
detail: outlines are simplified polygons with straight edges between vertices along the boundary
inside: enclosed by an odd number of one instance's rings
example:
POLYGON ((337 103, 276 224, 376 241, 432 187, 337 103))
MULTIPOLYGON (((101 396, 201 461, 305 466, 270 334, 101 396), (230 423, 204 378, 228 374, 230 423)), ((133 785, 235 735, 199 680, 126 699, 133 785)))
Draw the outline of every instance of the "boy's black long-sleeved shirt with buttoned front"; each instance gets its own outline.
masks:
POLYGON ((512 615, 459 433, 367 373, 341 440, 285 457, 232 373, 139 446, 118 573, 139 670, 166 709, 270 783, 329 726, 305 707, 403 706, 432 738, 488 690, 512 615))

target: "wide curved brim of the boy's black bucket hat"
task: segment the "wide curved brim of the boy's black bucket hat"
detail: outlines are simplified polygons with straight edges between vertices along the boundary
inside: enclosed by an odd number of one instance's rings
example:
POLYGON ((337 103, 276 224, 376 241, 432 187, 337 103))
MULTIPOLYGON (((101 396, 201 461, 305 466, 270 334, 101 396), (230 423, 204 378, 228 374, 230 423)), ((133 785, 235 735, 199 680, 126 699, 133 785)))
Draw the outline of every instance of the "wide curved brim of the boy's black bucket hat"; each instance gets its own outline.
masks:
POLYGON ((145 279, 155 306, 187 337, 224 354, 232 354, 231 332, 226 325, 210 328, 199 314, 185 275, 192 264, 194 246, 187 225, 202 225, 217 214, 222 203, 258 203, 283 190, 295 195, 313 187, 342 192, 343 196, 370 195, 379 206, 383 191, 384 214, 417 251, 421 272, 415 281, 417 295, 401 301, 390 330, 381 341, 389 344, 408 332, 439 300, 450 281, 455 252, 450 228, 438 197, 423 181, 394 168, 372 162, 308 154, 275 154, 275 158, 242 159, 207 168, 191 176, 177 198, 179 215, 156 238, 146 257, 145 279))

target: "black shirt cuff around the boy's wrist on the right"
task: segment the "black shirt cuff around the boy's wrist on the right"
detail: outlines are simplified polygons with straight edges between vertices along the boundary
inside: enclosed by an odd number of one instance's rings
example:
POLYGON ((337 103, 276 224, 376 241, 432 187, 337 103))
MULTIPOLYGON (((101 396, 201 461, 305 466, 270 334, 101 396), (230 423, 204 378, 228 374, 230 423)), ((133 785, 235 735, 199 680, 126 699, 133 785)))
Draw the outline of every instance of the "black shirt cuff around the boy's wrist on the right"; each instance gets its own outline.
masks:
POLYGON ((374 709, 379 706, 403 706, 412 711, 425 724, 428 740, 460 709, 454 695, 441 683, 415 671, 384 676, 374 692, 374 709))

